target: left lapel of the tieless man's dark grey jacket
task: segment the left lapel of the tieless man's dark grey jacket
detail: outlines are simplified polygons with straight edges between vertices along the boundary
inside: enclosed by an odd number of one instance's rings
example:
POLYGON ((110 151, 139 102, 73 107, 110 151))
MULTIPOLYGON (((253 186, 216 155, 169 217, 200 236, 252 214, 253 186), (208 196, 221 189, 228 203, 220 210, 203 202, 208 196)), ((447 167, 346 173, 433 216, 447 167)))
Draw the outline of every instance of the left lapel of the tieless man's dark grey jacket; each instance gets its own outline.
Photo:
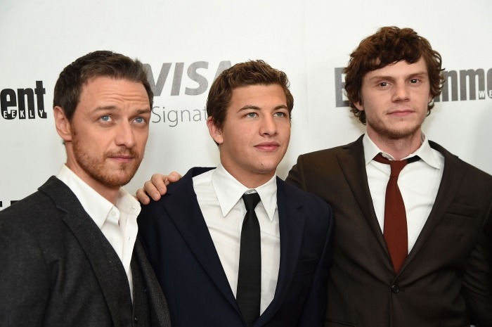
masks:
POLYGON ((120 326, 121 307, 132 307, 132 304, 127 276, 119 273, 124 271, 124 268, 118 255, 93 219, 85 212, 75 194, 62 181, 51 177, 39 191, 46 193, 58 209, 65 212, 62 219, 86 253, 110 309, 112 320, 115 326, 120 326), (115 276, 117 274, 120 276, 115 276), (115 290, 127 293, 128 296, 124 298, 128 299, 128 302, 121 303, 115 290))

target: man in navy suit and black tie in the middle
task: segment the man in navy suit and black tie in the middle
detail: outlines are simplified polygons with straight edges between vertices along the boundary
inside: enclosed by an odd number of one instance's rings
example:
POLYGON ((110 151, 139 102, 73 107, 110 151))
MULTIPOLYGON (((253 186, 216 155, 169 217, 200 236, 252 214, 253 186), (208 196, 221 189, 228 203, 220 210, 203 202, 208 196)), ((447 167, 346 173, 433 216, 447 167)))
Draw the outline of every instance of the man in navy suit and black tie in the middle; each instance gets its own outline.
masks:
POLYGON ((261 60, 224 70, 207 98, 221 165, 190 169, 142 208, 173 325, 323 326, 331 209, 276 177, 292 107, 284 72, 261 60))

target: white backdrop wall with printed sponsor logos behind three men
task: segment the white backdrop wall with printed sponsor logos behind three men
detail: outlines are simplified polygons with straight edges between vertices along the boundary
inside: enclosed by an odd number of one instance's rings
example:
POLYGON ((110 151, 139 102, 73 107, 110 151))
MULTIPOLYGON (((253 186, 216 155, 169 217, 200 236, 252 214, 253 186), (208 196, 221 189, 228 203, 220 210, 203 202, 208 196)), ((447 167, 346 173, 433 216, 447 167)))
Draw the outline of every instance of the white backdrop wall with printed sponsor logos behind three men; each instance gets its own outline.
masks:
POLYGON ((134 192, 153 172, 216 165, 203 111, 209 85, 217 70, 248 59, 266 60, 290 77, 292 139, 280 177, 301 153, 354 141, 364 129, 349 108, 337 106, 335 69, 386 25, 412 27, 456 74, 448 101, 427 117, 429 139, 492 173, 491 17, 489 0, 1 0, 0 210, 34 192, 65 161, 53 86, 85 53, 121 52, 153 72, 158 92, 145 159, 127 186, 134 192), (460 81, 469 70, 477 76, 460 81), (33 96, 23 110, 17 97, 27 89, 33 96))

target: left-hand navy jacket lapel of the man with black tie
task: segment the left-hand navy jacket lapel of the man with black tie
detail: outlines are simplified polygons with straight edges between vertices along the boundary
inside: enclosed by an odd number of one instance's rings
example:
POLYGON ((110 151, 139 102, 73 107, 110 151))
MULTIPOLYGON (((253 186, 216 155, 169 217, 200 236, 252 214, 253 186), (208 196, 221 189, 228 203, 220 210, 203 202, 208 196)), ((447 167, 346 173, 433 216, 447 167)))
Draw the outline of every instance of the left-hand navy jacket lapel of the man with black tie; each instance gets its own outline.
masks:
POLYGON ((183 184, 179 192, 168 191, 169 200, 163 204, 164 210, 210 279, 239 312, 231 285, 227 280, 193 190, 192 178, 195 174, 200 174, 200 172, 192 169, 183 177, 183 184))

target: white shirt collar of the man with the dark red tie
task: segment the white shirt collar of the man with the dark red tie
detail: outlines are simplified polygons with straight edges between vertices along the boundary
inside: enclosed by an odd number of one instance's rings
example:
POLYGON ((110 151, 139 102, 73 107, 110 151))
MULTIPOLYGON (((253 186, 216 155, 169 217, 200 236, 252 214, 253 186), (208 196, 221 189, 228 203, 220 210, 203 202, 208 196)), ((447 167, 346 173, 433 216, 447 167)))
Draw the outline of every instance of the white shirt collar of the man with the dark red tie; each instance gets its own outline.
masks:
MULTIPOLYGON (((368 165, 368 163, 373 160, 378 153, 382 153, 384 157, 388 158, 389 160, 394 160, 394 158, 389 155, 389 153, 385 153, 380 148, 378 148, 373 140, 370 139, 368 134, 365 134, 363 136, 362 143, 364 146, 365 165, 368 165)), ((423 162, 427 163, 427 165, 431 167, 437 169, 440 169, 442 167, 441 161, 439 160, 439 158, 436 158, 436 154, 429 144, 427 135, 425 135, 423 132, 420 148, 418 148, 414 153, 410 153, 403 159, 413 157, 414 155, 418 155, 423 162)))

